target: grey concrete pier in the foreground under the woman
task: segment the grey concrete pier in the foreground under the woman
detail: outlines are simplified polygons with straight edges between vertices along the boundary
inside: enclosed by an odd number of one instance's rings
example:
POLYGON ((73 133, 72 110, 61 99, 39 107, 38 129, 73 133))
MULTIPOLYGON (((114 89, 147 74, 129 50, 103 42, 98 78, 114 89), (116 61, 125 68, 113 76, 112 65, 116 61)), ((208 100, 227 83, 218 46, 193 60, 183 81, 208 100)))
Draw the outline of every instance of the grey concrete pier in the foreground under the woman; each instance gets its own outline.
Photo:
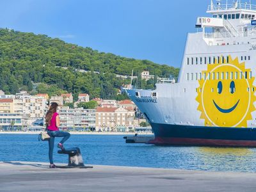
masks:
POLYGON ((0 162, 0 191, 255 191, 256 173, 0 162))

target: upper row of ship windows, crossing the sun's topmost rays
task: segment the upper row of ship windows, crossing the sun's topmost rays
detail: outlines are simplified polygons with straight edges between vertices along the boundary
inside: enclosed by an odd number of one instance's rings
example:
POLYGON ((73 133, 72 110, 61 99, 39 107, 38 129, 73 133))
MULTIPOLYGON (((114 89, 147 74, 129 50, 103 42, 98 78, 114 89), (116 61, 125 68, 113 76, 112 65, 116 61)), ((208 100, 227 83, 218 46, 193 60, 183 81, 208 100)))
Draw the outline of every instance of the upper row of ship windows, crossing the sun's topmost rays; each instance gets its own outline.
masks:
MULTIPOLYGON (((251 57, 250 56, 241 56, 241 61, 246 61, 246 60, 251 60, 251 57)), ((202 57, 200 57, 200 58, 187 58, 187 64, 188 65, 194 65, 194 63, 196 64, 196 65, 198 65, 199 63, 200 64, 211 64, 211 63, 216 63, 216 61, 217 61, 217 63, 218 64, 220 64, 220 62, 221 63, 225 63, 225 57, 224 56, 218 56, 218 57, 215 57, 215 56, 213 56, 213 57, 211 57, 211 56, 209 56, 208 57, 208 59, 207 59, 207 57, 204 57, 204 58, 202 58, 202 57)), ((229 60, 228 60, 228 56, 226 56, 226 63, 228 63, 229 62, 229 60)))

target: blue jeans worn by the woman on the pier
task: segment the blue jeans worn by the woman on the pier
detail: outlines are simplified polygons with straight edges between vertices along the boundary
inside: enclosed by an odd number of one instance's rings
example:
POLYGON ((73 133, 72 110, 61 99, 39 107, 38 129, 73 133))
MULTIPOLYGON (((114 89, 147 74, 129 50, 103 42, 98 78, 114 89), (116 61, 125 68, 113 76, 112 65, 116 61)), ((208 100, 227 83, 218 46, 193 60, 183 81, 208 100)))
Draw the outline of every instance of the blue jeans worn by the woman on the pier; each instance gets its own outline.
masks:
POLYGON ((49 136, 51 136, 49 140, 49 160, 50 160, 50 164, 53 164, 52 154, 53 154, 53 148, 54 148, 54 138, 63 137, 63 139, 60 141, 60 143, 63 144, 70 137, 70 133, 64 132, 64 131, 49 131, 49 130, 47 131, 47 133, 49 134, 49 136))

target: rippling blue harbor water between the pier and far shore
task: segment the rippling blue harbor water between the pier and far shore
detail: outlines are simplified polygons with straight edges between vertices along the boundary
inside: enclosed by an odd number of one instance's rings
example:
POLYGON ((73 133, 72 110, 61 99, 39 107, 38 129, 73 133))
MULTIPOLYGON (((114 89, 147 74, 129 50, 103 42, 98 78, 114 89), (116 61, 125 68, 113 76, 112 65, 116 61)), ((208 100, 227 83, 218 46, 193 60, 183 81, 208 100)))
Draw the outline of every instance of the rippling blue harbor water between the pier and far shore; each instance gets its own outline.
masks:
MULTIPOLYGON (((0 134, 0 161, 48 162, 48 142, 37 134, 0 134)), ((163 147, 125 143, 124 135, 72 134, 65 147, 79 147, 84 163, 186 170, 256 172, 255 148, 163 147)), ((67 163, 57 153, 54 163, 67 163)))

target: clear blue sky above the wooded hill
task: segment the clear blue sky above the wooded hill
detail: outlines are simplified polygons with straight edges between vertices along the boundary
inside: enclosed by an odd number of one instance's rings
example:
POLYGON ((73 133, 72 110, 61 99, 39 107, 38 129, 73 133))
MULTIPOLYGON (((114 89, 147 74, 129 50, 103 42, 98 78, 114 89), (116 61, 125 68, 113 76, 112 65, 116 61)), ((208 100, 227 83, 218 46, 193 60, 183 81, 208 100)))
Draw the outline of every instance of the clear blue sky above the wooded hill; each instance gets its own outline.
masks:
POLYGON ((188 32, 210 0, 0 1, 0 28, 180 67, 188 32))

